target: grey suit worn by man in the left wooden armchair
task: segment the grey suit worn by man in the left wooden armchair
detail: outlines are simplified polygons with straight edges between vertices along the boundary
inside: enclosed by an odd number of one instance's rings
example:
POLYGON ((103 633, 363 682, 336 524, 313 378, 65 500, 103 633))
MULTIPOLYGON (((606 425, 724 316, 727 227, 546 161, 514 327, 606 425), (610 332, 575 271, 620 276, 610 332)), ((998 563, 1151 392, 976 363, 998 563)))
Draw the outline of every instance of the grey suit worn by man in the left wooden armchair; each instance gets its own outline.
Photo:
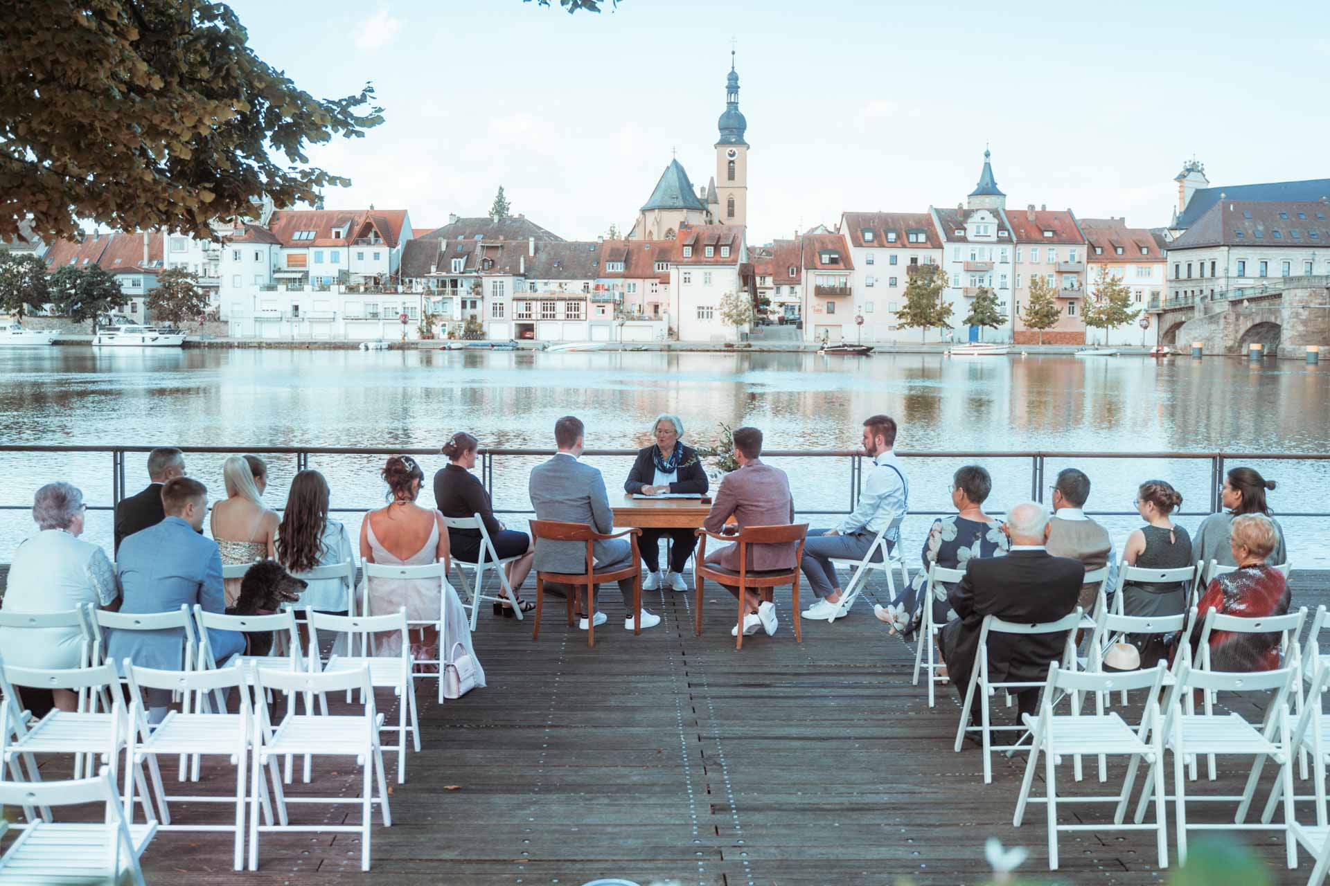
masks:
MULTIPOLYGON (((597 533, 614 529, 614 514, 609 510, 609 497, 605 494, 605 478, 600 470, 584 465, 567 453, 531 469, 528 484, 531 505, 536 509, 536 519, 552 519, 564 523, 587 523, 597 533)), ((633 546, 626 538, 597 541, 592 549, 597 570, 610 570, 632 566, 633 546)), ((545 573, 585 573, 587 546, 584 542, 556 542, 548 538, 536 539, 536 569, 545 573)), ((624 608, 633 614, 633 579, 618 580, 624 595, 624 608)))

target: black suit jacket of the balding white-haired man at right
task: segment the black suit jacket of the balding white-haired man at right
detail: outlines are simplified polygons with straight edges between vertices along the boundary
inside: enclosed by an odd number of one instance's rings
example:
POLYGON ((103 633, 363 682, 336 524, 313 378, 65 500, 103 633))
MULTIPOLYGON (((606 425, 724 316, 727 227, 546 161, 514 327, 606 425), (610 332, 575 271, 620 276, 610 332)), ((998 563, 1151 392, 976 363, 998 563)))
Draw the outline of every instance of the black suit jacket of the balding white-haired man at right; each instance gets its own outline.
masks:
MULTIPOLYGON (((939 643, 947 673, 962 697, 970 687, 986 615, 1020 624, 1056 622, 1076 608, 1084 578, 1080 561, 1044 550, 967 561, 966 576, 947 595, 958 618, 942 628, 939 643)), ((1065 644, 1065 634, 990 634, 988 676, 995 681, 1044 680, 1048 663, 1061 658, 1065 644)))

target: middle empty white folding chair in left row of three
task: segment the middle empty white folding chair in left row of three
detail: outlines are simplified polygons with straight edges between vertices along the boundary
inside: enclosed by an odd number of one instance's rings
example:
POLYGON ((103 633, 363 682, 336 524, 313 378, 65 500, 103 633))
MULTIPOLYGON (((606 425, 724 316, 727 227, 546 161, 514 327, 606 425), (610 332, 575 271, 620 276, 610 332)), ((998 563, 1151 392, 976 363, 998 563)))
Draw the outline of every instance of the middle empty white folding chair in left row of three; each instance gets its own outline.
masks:
MULTIPOLYGON (((250 707, 250 693, 246 687, 243 665, 235 662, 230 667, 211 671, 157 671, 153 668, 134 667, 129 659, 124 660, 124 673, 129 680, 129 756, 132 765, 146 761, 148 776, 152 780, 153 790, 157 794, 157 808, 161 818, 156 816, 150 821, 157 821, 161 830, 221 830, 234 834, 234 867, 245 867, 245 789, 247 786, 247 765, 250 736, 254 731, 253 708, 250 707), (170 711, 166 719, 156 727, 148 725, 145 716, 146 700, 144 689, 170 689, 181 695, 194 695, 197 697, 197 711, 194 713, 181 713, 170 711), (229 713, 223 707, 213 709, 211 696, 217 692, 235 689, 238 699, 237 712, 229 713), (157 768, 157 754, 190 754, 196 760, 202 754, 229 757, 235 766, 235 793, 233 797, 225 796, 170 796, 162 788, 161 770, 157 768), (234 824, 218 825, 173 825, 170 820, 169 801, 182 804, 197 802, 234 802, 234 824)), ((261 784, 261 788, 263 785, 261 784)), ((125 780, 125 809, 133 824, 133 780, 125 780)), ((263 812, 267 821, 273 821, 273 808, 265 796, 263 812)))

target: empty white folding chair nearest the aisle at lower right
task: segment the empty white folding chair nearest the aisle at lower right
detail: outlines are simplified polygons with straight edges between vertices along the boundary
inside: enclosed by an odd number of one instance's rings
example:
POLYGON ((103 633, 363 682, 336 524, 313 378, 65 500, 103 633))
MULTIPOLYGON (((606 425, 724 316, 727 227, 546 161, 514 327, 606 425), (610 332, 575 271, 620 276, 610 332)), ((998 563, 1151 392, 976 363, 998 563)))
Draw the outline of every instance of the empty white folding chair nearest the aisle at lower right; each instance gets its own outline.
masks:
POLYGON ((1020 796, 1016 800, 1016 814, 1012 825, 1020 828, 1025 816, 1027 802, 1047 804, 1048 810, 1048 869, 1057 870, 1057 834, 1061 832, 1092 830, 1096 834, 1105 830, 1153 830, 1158 847, 1160 867, 1168 867, 1168 813, 1164 808, 1164 744, 1160 737, 1160 687, 1168 669, 1161 662, 1145 671, 1132 671, 1128 673, 1076 673, 1064 671, 1053 663, 1048 668, 1048 683, 1044 684, 1044 697, 1040 703, 1039 717, 1025 715, 1025 724, 1033 731, 1035 739, 1025 762, 1025 777, 1020 782, 1020 796), (1053 713, 1053 693, 1093 692, 1101 697, 1115 689, 1149 689, 1145 701, 1145 712, 1140 725, 1133 731, 1117 713, 1095 715, 1064 715, 1053 713), (1044 797, 1029 794, 1035 780, 1039 754, 1044 754, 1044 797), (1057 796, 1057 764, 1072 754, 1080 758, 1081 754, 1099 754, 1103 760, 1107 754, 1130 757, 1123 789, 1108 796, 1057 796), (1149 765, 1149 777, 1154 780, 1154 824, 1140 822, 1124 824, 1127 804, 1132 797, 1132 786, 1136 784, 1136 770, 1141 762, 1149 765), (1057 824, 1057 804, 1060 802, 1112 802, 1116 804, 1113 824, 1057 824))

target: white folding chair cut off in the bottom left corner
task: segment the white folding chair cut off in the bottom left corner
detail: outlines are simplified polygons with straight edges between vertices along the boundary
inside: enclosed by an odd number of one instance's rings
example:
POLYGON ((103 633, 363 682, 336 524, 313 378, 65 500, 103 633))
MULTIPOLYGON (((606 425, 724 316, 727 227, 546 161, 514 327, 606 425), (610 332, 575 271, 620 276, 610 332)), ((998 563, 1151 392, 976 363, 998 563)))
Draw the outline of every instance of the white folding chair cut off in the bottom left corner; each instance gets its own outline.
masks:
MULTIPOLYGON (((138 863, 152 842, 156 822, 129 825, 116 797, 116 777, 104 768, 93 778, 73 781, 0 781, 0 805, 76 806, 100 802, 102 821, 28 825, 0 857, 0 883, 124 883, 146 886, 138 863)), ((0 821, 0 837, 11 825, 0 821)))

